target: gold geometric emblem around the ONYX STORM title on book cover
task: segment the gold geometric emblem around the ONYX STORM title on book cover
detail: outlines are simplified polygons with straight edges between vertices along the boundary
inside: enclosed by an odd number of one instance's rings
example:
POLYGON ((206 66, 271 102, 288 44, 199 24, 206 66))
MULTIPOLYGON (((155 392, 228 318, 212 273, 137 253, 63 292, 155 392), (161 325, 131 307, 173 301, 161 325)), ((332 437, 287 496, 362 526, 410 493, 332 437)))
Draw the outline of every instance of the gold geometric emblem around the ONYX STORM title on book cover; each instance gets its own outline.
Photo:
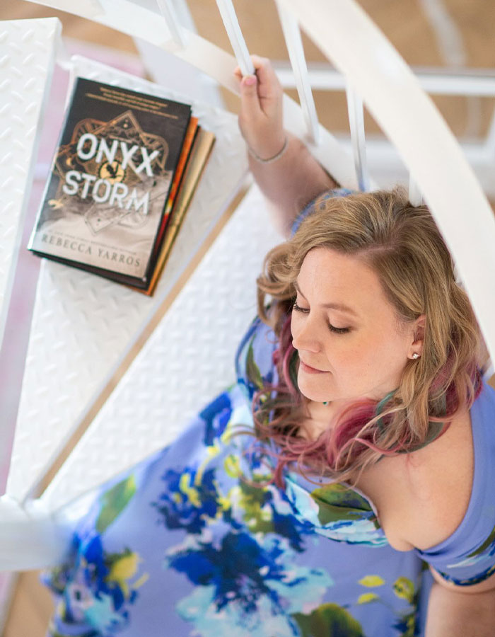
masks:
POLYGON ((108 122, 81 120, 57 154, 52 211, 70 205, 93 234, 113 225, 141 226, 153 201, 168 192, 167 156, 165 139, 144 132, 130 110, 108 122))

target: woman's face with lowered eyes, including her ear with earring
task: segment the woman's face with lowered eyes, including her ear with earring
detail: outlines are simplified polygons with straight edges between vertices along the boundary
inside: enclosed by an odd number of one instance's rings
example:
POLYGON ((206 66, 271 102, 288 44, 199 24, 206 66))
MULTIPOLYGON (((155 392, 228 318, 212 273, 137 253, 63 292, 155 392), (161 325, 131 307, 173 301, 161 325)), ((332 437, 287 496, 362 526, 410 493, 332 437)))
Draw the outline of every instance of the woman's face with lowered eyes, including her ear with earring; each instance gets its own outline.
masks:
POLYGON ((378 276, 354 256, 313 248, 296 280, 298 386, 312 401, 380 400, 396 389, 422 341, 423 317, 400 323, 378 276))

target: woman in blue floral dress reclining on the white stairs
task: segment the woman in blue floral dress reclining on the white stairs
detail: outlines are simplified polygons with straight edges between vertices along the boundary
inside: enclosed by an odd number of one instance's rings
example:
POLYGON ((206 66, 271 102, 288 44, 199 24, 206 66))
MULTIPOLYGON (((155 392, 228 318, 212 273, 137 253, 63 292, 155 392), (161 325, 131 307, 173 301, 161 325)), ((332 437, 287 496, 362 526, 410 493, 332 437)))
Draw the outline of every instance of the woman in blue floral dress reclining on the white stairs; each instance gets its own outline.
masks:
POLYGON ((293 236, 235 386, 78 524, 51 633, 412 636, 427 604, 428 637, 491 635, 495 392, 470 304, 426 208, 332 190, 254 61, 240 126, 293 236))

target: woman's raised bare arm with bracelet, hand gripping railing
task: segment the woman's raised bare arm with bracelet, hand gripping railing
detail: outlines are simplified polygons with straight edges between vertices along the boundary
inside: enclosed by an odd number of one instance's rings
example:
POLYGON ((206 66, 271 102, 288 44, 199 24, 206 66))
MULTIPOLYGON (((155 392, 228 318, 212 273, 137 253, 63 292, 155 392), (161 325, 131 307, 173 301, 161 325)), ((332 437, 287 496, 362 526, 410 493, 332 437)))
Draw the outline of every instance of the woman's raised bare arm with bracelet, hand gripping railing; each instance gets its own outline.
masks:
POLYGON ((240 81, 240 130, 248 147, 260 158, 284 153, 271 163, 250 154, 250 168, 257 184, 272 204, 274 223, 288 236, 296 214, 317 195, 336 188, 337 182, 325 172, 303 142, 286 135, 282 125, 282 90, 267 59, 252 57, 256 75, 235 74, 240 81))

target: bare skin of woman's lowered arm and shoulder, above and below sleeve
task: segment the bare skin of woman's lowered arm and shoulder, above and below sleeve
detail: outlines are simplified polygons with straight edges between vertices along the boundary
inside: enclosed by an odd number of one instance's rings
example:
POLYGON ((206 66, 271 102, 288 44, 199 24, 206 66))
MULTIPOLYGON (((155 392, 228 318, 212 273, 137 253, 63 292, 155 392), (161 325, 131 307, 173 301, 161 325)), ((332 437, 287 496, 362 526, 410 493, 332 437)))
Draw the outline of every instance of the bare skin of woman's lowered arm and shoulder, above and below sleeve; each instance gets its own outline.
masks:
MULTIPOLYGON (((473 475, 472 427, 465 411, 453 419, 443 436, 426 447, 375 464, 368 470, 365 493, 377 505, 380 524, 395 549, 409 551, 416 546, 429 551, 450 538, 465 519, 473 475)), ((480 507, 477 515, 490 516, 486 525, 490 533, 494 517, 488 507, 480 507)), ((482 541, 482 537, 473 537, 470 549, 477 549, 482 541)), ((483 546, 487 551, 490 548, 487 543, 483 546)), ((492 563, 488 557, 474 569, 483 572, 492 563)), ((435 582, 424 637, 494 636, 495 575, 477 584, 455 585, 433 567, 430 570, 435 582)))

